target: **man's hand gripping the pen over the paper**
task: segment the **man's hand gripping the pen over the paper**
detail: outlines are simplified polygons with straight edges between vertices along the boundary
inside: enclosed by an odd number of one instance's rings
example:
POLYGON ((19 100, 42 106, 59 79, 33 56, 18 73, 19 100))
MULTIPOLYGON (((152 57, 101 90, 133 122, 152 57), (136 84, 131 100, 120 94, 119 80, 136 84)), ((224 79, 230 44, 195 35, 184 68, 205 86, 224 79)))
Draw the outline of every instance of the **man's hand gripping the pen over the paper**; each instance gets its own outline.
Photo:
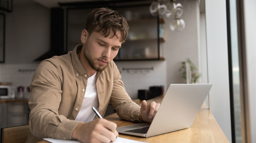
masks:
POLYGON ((88 123, 79 123, 72 132, 72 138, 83 143, 114 142, 118 136, 117 124, 106 119, 96 119, 88 123))

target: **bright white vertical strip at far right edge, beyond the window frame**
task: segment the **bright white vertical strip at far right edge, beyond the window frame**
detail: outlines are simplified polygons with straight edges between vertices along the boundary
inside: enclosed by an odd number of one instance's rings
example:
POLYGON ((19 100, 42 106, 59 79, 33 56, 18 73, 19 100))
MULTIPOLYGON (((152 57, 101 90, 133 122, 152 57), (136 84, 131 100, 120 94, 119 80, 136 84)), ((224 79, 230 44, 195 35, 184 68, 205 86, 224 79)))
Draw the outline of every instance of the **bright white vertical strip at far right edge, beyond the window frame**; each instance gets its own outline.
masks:
POLYGON ((245 54, 247 67, 247 91, 248 91, 248 107, 249 107, 249 124, 251 142, 256 142, 256 1, 244 0, 244 16, 245 16, 245 54))

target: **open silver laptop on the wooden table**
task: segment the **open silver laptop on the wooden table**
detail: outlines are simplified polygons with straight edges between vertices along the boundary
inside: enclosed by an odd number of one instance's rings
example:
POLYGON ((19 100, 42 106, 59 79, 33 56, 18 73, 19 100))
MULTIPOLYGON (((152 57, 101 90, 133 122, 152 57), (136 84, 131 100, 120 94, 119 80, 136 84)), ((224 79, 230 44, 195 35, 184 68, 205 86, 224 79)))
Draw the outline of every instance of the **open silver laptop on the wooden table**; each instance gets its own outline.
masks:
POLYGON ((121 134, 150 137, 190 128, 212 84, 171 84, 152 123, 117 127, 121 134))

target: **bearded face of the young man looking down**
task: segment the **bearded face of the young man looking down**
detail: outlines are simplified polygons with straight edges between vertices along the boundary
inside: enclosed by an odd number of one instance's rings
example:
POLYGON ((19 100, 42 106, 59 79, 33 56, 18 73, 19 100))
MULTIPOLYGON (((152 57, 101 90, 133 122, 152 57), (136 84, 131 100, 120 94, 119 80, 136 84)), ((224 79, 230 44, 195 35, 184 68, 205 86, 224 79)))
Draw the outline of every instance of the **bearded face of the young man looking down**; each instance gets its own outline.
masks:
MULTIPOLYGON (((85 42, 84 56, 88 63, 95 71, 103 71, 108 64, 117 56, 119 48, 121 48, 120 32, 112 37, 111 33, 108 37, 104 37, 101 33, 93 32, 85 42)), ((87 34, 88 36, 88 34, 87 34)))

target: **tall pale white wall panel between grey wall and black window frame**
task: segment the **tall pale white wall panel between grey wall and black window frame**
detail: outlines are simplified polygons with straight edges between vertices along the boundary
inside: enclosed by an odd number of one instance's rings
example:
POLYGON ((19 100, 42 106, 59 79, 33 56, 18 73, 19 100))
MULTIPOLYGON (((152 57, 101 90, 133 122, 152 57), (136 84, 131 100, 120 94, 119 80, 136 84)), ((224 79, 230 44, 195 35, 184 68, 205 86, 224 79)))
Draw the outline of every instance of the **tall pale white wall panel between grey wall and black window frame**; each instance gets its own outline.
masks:
POLYGON ((227 54, 226 2, 205 0, 209 107, 231 142, 229 75, 227 54))

